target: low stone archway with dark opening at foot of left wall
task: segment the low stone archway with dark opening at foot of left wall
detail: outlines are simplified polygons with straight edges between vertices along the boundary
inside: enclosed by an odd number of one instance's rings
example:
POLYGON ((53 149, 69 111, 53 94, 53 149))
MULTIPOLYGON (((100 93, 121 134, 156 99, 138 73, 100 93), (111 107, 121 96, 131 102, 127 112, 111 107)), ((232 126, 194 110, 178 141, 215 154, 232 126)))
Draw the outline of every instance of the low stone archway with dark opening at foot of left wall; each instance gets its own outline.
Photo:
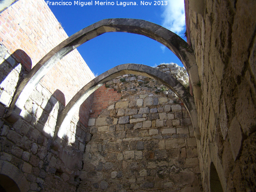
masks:
POLYGON ((25 177, 23 172, 20 171, 18 167, 16 167, 15 165, 7 161, 0 160, 0 168, 1 168, 0 180, 4 179, 7 182, 8 181, 13 182, 12 184, 16 185, 16 186, 13 185, 14 188, 10 187, 9 185, 6 185, 7 187, 5 188, 6 192, 8 191, 27 192, 30 189, 29 187, 30 185, 27 181, 27 178, 25 177))

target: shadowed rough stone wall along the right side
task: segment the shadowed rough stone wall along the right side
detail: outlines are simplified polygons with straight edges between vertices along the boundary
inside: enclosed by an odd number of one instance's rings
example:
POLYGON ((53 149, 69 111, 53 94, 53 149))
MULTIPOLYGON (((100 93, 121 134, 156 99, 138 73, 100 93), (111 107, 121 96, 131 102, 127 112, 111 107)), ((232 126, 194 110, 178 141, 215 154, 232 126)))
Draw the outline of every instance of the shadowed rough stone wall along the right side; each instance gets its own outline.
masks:
POLYGON ((204 191, 210 190, 211 162, 223 191, 255 191, 256 3, 203 1, 204 12, 198 14, 190 6, 195 1, 188 2, 203 92, 196 108, 204 191))

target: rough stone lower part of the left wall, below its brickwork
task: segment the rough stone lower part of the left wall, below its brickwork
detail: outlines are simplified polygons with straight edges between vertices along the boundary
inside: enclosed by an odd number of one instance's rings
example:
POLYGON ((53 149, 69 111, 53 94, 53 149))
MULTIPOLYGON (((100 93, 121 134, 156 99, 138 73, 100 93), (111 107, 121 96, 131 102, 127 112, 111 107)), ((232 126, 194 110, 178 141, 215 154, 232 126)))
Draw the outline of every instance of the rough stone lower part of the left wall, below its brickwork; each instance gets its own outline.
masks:
MULTIPOLYGON (((79 170, 83 168, 84 138, 89 129, 78 116, 73 116, 61 148, 53 150, 51 144, 57 116, 65 106, 40 83, 26 101, 20 119, 14 124, 5 121, 3 117, 10 96, 26 75, 26 69, 7 53, 3 45, 0 51, 2 58, 8 55, 0 65, 0 174, 16 179, 18 187, 25 191, 63 191, 58 185, 75 191, 79 170)), ((58 90, 55 92, 64 96, 58 90)), ((89 97, 84 103, 91 102, 89 97)), ((81 106, 79 112, 83 114, 81 106)))

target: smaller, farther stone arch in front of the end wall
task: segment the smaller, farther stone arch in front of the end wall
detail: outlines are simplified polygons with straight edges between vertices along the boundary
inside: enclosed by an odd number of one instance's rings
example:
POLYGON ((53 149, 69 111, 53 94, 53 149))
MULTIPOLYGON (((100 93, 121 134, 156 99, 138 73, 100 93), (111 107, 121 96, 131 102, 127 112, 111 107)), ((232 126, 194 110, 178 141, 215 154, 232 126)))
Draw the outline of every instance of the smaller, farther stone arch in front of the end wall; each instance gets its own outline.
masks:
POLYGON ((67 106, 63 109, 57 119, 55 133, 53 137, 53 140, 56 140, 54 148, 58 148, 61 142, 61 138, 63 136, 65 137, 66 125, 68 124, 76 110, 79 109, 80 105, 84 102, 84 100, 86 100, 87 97, 92 94, 92 92, 94 92, 104 83, 125 74, 147 76, 149 78, 159 81, 160 83, 171 89, 182 100, 185 107, 187 108, 194 127, 195 137, 197 139, 200 139, 195 102, 188 90, 186 90, 185 87, 180 84, 180 82, 177 81, 174 77, 167 75, 160 70, 146 65, 128 63, 118 65, 95 77, 80 91, 78 91, 76 95, 68 102, 67 106))

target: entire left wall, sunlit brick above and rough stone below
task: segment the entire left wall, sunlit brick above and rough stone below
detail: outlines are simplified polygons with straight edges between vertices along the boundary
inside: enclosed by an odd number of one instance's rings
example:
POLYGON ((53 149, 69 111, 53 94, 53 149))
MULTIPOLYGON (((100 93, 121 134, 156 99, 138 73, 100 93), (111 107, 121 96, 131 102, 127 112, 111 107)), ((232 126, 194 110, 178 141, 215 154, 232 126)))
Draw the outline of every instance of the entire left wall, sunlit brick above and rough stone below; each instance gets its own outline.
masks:
POLYGON ((76 50, 34 88, 16 123, 4 119, 24 76, 67 37, 44 1, 20 0, 0 14, 0 185, 4 175, 21 191, 75 191, 79 184, 92 97, 67 124, 61 147, 51 148, 58 114, 94 77, 76 50))

